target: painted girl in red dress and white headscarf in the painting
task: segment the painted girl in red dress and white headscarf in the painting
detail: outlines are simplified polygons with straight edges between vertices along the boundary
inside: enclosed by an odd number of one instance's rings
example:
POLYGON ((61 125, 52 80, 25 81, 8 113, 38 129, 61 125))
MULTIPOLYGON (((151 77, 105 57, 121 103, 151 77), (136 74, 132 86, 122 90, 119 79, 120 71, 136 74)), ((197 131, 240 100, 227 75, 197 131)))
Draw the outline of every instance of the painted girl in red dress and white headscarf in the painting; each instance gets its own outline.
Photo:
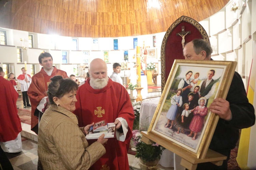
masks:
POLYGON ((201 132, 203 127, 204 117, 208 113, 208 108, 204 105, 206 103, 206 100, 207 99, 205 97, 201 97, 198 100, 199 106, 197 106, 193 112, 194 117, 192 118, 191 123, 189 125, 189 129, 191 130, 191 132, 189 135, 187 135, 187 136, 192 136, 192 134, 194 133, 192 140, 195 140, 197 133, 201 132))

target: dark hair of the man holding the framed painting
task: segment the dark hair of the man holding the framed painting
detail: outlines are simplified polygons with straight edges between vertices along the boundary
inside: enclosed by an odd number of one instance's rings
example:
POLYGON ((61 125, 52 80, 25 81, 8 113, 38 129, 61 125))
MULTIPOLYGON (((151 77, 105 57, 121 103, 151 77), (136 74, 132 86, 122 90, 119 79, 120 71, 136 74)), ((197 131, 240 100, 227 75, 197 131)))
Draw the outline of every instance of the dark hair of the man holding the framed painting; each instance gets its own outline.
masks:
POLYGON ((203 39, 193 39, 192 43, 194 45, 194 50, 196 54, 199 54, 201 51, 205 51, 206 57, 211 57, 212 47, 209 43, 207 43, 203 39))

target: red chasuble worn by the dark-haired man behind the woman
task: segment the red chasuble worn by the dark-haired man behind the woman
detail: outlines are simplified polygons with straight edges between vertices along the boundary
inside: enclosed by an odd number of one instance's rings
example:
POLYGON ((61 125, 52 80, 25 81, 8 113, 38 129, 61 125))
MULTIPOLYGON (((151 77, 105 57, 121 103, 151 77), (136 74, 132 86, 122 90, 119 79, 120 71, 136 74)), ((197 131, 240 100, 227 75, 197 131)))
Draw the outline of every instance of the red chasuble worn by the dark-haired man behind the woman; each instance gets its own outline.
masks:
POLYGON ((38 126, 38 117, 34 116, 35 110, 39 102, 47 96, 48 85, 51 82, 51 78, 56 75, 61 75, 63 78, 68 78, 68 75, 65 71, 58 70, 56 67, 53 68, 52 75, 48 75, 43 67, 41 71, 33 75, 32 82, 28 88, 28 96, 31 102, 31 130, 35 133, 38 133, 38 129, 33 129, 35 126, 38 126))

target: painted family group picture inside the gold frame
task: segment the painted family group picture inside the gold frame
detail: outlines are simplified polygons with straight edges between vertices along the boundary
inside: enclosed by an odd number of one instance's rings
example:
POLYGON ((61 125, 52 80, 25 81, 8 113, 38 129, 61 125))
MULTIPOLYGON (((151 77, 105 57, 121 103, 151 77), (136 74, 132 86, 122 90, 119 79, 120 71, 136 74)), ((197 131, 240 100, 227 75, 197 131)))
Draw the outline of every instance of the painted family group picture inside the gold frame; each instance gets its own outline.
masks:
POLYGON ((217 96, 224 68, 177 66, 160 107, 154 130, 196 152, 202 140, 209 106, 217 96))

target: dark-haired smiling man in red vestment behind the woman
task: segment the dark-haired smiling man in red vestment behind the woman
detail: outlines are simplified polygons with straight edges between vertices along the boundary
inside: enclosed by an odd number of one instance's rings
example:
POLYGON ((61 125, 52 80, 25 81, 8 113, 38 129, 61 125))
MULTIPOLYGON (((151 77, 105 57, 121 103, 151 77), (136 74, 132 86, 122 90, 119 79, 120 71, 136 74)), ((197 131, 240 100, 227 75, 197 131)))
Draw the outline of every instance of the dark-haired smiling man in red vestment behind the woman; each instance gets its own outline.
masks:
POLYGON ((50 79, 56 75, 68 78, 65 71, 53 67, 53 57, 50 53, 41 53, 38 57, 41 70, 33 75, 32 82, 28 88, 28 96, 32 105, 31 108, 31 131, 38 134, 39 121, 44 111, 47 109, 47 90, 50 79))

